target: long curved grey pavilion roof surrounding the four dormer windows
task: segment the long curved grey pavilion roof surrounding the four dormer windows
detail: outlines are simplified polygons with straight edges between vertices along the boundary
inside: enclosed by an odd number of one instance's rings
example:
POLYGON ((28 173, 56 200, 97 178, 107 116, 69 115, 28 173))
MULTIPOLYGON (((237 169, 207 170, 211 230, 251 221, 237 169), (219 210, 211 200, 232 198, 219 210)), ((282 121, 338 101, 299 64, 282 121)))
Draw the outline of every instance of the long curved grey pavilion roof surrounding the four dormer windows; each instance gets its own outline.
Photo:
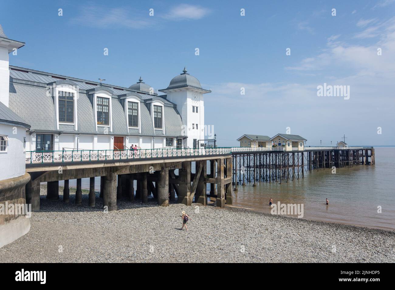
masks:
MULTIPOLYGON (((86 91, 100 86, 99 83, 86 83, 85 80, 38 72, 23 67, 10 66, 9 107, 19 114, 23 120, 28 120, 32 130, 40 131, 67 131, 73 133, 103 133, 103 127, 98 127, 96 132, 96 120, 94 120, 94 108, 86 91), (18 69, 18 70, 15 70, 18 69), (77 99, 78 130, 73 125, 59 125, 56 127, 55 106, 51 95, 47 94, 47 84, 67 79, 79 87, 77 99)), ((166 136, 180 136, 182 120, 176 105, 166 99, 166 95, 158 97, 156 94, 144 94, 134 92, 127 88, 105 86, 107 91, 112 92, 112 122, 113 134, 152 136, 155 134, 152 118, 146 102, 159 98, 164 102, 164 120, 166 136), (141 134, 135 129, 128 129, 124 109, 119 101, 119 96, 132 94, 140 98, 141 134)), ((147 103, 149 106, 149 103, 147 103)), ((162 135, 162 130, 157 132, 162 135)))

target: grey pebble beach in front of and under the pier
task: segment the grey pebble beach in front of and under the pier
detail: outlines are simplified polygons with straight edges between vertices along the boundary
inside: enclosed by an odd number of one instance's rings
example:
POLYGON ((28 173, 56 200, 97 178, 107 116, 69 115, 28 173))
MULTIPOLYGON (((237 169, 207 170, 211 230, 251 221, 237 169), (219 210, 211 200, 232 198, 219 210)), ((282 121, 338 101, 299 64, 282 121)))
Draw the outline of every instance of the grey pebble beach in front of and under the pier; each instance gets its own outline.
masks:
POLYGON ((118 201, 118 211, 45 198, 30 231, 0 249, 2 262, 395 262, 395 232, 172 203, 118 201), (191 217, 182 226, 181 211, 191 217))

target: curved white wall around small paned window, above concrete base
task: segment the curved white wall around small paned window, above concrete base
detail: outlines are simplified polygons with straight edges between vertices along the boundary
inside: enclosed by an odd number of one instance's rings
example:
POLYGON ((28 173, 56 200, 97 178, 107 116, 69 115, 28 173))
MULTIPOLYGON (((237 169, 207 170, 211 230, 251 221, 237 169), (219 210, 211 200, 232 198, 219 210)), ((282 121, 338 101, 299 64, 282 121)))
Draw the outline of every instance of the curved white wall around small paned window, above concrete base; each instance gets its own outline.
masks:
POLYGON ((7 135, 9 138, 6 152, 0 152, 0 180, 22 176, 25 174, 23 137, 26 135, 26 128, 0 124, 0 135, 7 135))

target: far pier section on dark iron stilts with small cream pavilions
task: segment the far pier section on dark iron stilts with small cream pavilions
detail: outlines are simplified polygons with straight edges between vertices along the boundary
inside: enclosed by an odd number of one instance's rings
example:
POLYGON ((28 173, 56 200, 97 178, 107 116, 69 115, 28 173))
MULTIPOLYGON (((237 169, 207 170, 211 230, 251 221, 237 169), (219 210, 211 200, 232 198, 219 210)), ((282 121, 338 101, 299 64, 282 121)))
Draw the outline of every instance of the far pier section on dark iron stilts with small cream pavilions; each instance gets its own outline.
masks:
POLYGON ((272 138, 245 134, 237 140, 240 147, 231 149, 235 191, 239 185, 292 181, 318 169, 375 164, 373 147, 353 147, 343 141, 335 147, 306 147, 305 138, 291 134, 272 138))

